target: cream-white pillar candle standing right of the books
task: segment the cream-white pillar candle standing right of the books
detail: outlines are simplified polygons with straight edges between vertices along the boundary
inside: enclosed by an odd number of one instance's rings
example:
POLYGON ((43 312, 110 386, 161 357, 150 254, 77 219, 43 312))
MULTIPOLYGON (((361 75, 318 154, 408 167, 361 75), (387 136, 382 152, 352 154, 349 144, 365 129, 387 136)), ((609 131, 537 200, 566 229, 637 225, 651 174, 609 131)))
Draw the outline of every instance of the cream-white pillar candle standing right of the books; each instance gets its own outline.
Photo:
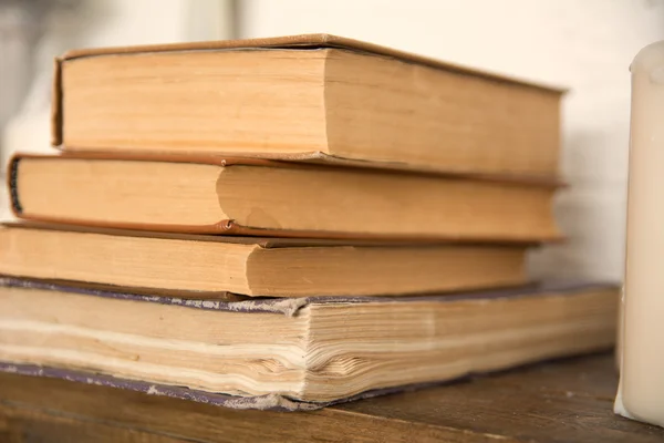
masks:
POLYGON ((664 41, 632 65, 627 248, 615 412, 664 426, 664 41))

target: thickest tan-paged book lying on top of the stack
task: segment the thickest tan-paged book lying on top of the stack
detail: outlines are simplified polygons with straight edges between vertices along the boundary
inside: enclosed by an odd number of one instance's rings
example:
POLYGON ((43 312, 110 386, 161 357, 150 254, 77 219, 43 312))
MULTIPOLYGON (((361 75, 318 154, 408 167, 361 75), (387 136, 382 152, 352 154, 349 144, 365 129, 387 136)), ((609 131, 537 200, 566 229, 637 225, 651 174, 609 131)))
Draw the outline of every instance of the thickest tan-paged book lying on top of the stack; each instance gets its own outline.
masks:
POLYGON ((563 91, 334 35, 76 50, 54 81, 65 151, 557 175, 563 91))

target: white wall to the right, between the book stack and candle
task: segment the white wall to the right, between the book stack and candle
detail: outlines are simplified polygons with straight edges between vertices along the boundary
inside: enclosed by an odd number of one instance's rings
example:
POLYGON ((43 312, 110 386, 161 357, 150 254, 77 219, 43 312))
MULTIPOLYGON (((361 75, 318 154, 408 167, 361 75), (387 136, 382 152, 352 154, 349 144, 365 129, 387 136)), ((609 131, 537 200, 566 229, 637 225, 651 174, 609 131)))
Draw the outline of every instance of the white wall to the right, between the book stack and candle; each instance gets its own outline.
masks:
POLYGON ((570 89, 561 171, 571 186, 556 208, 569 239, 533 254, 532 268, 622 279, 629 66, 664 40, 664 1, 246 0, 240 19, 240 37, 328 32, 570 89))

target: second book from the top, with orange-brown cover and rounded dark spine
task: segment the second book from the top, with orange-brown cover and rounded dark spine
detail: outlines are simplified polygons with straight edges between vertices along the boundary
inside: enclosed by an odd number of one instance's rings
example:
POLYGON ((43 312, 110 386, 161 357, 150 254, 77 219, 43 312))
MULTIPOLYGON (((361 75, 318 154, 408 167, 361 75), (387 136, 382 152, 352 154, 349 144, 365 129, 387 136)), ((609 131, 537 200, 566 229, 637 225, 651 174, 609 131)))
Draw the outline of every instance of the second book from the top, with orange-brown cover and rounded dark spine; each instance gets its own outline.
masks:
POLYGON ((18 155, 18 217, 280 237, 546 241, 552 183, 416 175, 215 156, 18 155))

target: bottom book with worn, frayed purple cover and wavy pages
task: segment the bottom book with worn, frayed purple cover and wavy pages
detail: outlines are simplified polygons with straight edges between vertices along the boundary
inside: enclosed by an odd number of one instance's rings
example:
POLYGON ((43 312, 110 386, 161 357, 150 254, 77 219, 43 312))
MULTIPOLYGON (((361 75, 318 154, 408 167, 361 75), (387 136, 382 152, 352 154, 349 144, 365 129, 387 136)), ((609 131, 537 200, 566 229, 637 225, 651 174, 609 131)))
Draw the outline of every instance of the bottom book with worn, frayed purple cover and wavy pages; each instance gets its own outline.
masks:
POLYGON ((184 300, 3 279, 0 370, 302 410, 608 349, 619 289, 184 300))

